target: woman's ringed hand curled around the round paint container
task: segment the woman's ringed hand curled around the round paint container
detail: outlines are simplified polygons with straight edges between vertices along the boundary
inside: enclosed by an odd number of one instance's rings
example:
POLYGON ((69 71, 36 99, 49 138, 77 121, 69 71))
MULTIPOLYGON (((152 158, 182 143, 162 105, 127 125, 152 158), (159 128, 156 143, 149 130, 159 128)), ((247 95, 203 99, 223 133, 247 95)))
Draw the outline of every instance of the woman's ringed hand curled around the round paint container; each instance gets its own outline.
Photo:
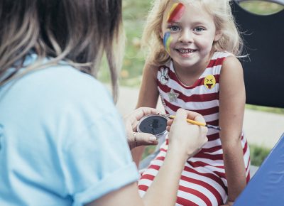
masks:
POLYGON ((155 136, 153 136, 153 134, 137 132, 138 121, 143 116, 146 116, 147 114, 157 113, 157 109, 149 107, 140 107, 124 117, 124 124, 126 126, 126 136, 130 149, 133 149, 136 146, 158 144, 158 140, 155 136))

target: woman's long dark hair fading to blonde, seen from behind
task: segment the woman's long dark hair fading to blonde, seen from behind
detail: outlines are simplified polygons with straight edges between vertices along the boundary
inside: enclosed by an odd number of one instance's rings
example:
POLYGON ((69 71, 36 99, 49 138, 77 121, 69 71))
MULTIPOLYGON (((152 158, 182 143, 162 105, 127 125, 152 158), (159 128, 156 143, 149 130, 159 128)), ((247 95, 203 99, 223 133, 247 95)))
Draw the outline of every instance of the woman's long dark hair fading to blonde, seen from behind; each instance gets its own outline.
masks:
MULTIPOLYGON (((48 65, 65 60, 94 77, 106 53, 116 101, 121 23, 121 0, 0 0, 0 85, 17 77, 31 51, 39 60, 51 58, 48 65), (16 72, 4 78, 11 67, 16 72)), ((43 66, 37 61, 28 68, 43 66)))

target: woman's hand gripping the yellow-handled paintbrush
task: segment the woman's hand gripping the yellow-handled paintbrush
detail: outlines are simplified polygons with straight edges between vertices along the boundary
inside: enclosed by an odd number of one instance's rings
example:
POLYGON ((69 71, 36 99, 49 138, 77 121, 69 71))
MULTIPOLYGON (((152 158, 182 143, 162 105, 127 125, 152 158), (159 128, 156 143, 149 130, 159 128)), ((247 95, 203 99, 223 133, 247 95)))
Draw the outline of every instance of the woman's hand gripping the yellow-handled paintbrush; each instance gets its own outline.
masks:
POLYGON ((204 118, 196 113, 178 109, 174 120, 168 121, 169 150, 178 148, 185 158, 192 157, 207 143, 207 127, 187 123, 186 119, 205 122, 204 118))

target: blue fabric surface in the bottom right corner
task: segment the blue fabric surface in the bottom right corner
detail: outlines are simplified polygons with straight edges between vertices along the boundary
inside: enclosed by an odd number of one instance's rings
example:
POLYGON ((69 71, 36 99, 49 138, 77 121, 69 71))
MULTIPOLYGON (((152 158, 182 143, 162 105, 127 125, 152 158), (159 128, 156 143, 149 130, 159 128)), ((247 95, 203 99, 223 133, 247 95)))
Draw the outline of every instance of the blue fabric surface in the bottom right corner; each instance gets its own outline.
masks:
POLYGON ((234 206, 284 205, 284 134, 253 175, 234 206))

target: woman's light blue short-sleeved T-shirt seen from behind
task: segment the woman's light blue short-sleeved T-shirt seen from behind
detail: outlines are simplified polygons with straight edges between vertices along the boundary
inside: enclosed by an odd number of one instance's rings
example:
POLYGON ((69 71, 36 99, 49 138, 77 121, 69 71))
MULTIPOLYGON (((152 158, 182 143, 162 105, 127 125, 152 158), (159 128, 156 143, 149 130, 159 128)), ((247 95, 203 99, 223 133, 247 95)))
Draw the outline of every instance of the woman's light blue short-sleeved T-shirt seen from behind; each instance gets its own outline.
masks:
POLYGON ((0 205, 84 205, 135 182, 124 130, 104 86, 66 64, 0 87, 0 205))

